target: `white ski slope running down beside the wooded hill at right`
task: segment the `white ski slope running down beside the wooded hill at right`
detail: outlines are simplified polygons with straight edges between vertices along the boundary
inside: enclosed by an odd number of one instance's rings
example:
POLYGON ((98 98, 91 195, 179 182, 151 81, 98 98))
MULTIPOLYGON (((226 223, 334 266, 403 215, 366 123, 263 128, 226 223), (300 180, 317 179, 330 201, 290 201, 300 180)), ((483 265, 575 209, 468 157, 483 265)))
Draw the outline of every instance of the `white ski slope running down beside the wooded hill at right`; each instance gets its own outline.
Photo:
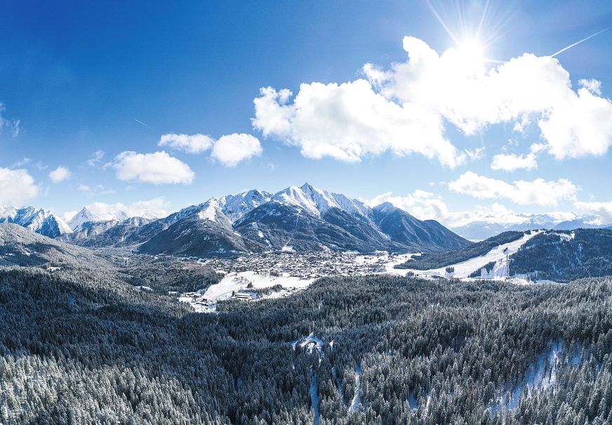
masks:
POLYGON ((482 270, 481 278, 488 279, 503 279, 508 277, 508 257, 512 254, 516 253, 519 248, 528 240, 530 240, 535 235, 542 233, 541 231, 533 231, 529 235, 524 235, 519 240, 515 240, 514 242, 509 242, 507 244, 499 245, 488 251, 486 254, 482 256, 474 257, 473 259, 469 259, 467 261, 463 261, 461 263, 451 264, 449 266, 444 266, 441 268, 434 268, 431 270, 397 270, 393 269, 396 272, 401 272, 401 274, 405 275, 408 272, 412 272, 415 275, 419 276, 441 276, 441 277, 458 277, 458 278, 467 278, 470 274, 474 273, 476 270, 483 268, 488 263, 495 263, 493 269, 490 272, 486 272, 486 270, 482 270), (455 269, 453 273, 446 273, 446 268, 452 267, 455 269))

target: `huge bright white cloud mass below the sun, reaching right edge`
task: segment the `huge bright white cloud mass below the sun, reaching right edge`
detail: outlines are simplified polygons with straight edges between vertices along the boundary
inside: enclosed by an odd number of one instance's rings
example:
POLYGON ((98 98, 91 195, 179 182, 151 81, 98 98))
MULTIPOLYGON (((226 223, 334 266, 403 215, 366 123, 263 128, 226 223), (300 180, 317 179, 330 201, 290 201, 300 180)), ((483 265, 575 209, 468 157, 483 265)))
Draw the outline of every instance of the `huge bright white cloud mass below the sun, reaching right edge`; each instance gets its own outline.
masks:
POLYGON ((264 136, 300 147, 311 158, 359 161, 365 155, 418 153, 456 166, 470 159, 445 136, 452 125, 471 135, 492 124, 522 131, 537 124, 551 155, 603 155, 612 144, 612 103, 597 80, 581 80, 550 56, 525 53, 493 68, 461 48, 439 54, 404 37, 405 63, 363 68, 367 79, 344 84, 263 88, 253 126, 264 136))

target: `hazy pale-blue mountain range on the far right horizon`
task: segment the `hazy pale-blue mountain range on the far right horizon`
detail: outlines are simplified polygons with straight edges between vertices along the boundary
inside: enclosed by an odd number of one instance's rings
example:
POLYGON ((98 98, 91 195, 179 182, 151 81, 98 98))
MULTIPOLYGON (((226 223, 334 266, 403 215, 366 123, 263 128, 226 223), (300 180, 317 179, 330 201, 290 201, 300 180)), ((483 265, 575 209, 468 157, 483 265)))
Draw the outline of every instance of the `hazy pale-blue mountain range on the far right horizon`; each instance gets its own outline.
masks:
POLYGON ((572 230, 577 228, 602 228, 604 225, 594 225, 594 216, 576 216, 573 220, 559 221, 550 214, 532 214, 524 216, 521 223, 491 223, 487 221, 472 221, 451 230, 468 240, 485 240, 488 237, 503 232, 521 232, 524 230, 572 230))

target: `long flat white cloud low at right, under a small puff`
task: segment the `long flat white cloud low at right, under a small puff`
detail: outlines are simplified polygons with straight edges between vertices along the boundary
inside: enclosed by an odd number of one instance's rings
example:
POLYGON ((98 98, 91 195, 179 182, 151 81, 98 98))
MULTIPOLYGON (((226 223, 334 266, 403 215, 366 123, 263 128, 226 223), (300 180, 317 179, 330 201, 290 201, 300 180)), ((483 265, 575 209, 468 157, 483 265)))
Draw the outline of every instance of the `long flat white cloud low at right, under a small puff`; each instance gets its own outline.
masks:
POLYGON ((514 181, 512 184, 495 178, 479 176, 466 171, 455 181, 448 183, 454 192, 463 193, 479 199, 506 198, 522 205, 556 206, 562 201, 576 200, 578 188, 566 178, 557 181, 514 181))

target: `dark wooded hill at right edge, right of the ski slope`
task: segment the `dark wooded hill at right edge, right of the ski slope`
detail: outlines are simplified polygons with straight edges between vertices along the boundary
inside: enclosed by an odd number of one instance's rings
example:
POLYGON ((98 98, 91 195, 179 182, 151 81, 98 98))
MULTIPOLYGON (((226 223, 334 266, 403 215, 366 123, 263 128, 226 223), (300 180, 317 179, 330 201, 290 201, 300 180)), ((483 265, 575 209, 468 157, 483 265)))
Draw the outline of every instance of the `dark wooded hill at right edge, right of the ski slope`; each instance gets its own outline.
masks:
POLYGON ((536 235, 510 256, 510 273, 556 282, 612 275, 612 230, 559 230, 536 235))

